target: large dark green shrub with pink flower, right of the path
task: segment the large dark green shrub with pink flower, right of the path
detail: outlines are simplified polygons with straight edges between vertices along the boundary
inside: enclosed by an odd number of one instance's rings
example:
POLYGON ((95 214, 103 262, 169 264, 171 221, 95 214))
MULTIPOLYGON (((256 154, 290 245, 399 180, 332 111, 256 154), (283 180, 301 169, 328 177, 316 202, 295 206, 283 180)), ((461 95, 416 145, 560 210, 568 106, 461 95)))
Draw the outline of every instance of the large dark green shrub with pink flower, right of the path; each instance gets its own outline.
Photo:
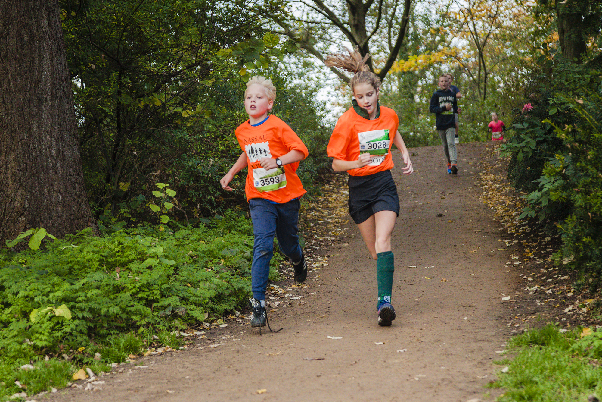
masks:
POLYGON ((582 274, 580 284, 602 280, 602 77, 587 66, 557 61, 552 77, 515 119, 503 151, 508 176, 529 192, 523 214, 556 225, 562 247, 556 263, 582 274))

